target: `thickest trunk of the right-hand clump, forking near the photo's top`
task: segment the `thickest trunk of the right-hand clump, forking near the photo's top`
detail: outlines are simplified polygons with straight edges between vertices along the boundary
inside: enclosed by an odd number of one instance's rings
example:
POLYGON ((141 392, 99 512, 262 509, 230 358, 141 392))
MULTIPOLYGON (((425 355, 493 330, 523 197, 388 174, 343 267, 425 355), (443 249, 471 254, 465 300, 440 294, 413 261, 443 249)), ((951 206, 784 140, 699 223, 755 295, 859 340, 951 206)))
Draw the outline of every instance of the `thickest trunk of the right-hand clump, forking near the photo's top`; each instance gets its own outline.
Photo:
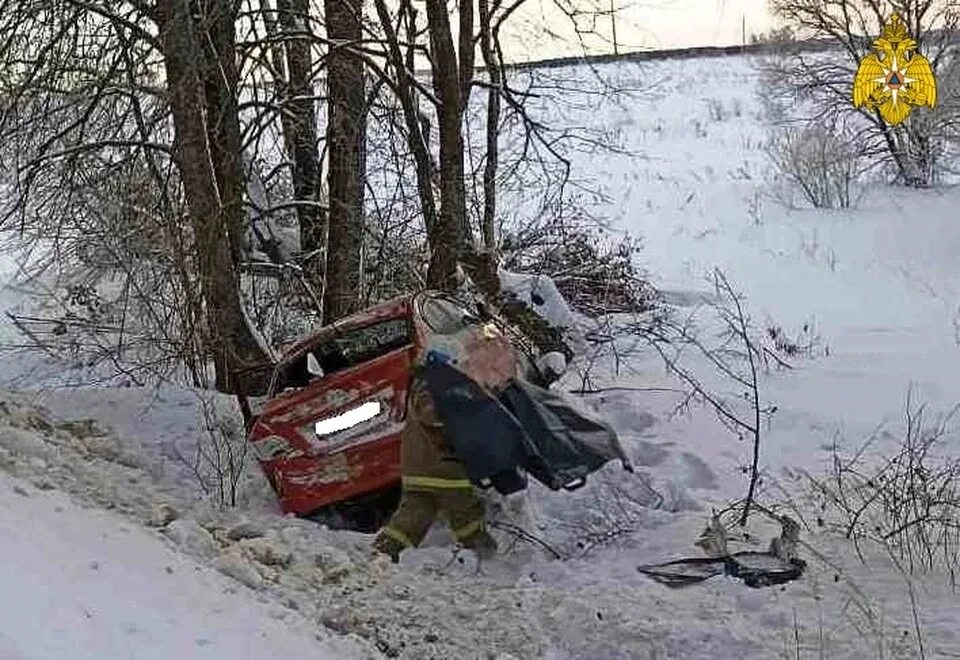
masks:
POLYGON ((457 264, 473 243, 463 164, 463 111, 473 76, 472 2, 461 2, 460 11, 461 30, 466 26, 471 32, 461 35, 461 49, 465 50, 458 60, 445 0, 427 0, 433 85, 440 101, 440 217, 436 240, 430 246, 427 284, 441 290, 456 288, 457 264))

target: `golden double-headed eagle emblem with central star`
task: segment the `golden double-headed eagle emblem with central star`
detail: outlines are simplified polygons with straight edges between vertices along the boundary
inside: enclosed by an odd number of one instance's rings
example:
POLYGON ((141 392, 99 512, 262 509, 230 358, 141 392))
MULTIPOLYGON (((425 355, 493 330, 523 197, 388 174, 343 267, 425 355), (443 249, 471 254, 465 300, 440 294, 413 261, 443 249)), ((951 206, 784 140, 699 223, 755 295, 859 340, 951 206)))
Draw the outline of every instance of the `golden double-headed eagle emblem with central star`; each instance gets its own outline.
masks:
POLYGON ((873 42, 874 52, 860 60, 853 81, 853 105, 877 110, 896 126, 914 106, 937 103, 937 81, 930 61, 917 52, 917 42, 894 14, 873 42))

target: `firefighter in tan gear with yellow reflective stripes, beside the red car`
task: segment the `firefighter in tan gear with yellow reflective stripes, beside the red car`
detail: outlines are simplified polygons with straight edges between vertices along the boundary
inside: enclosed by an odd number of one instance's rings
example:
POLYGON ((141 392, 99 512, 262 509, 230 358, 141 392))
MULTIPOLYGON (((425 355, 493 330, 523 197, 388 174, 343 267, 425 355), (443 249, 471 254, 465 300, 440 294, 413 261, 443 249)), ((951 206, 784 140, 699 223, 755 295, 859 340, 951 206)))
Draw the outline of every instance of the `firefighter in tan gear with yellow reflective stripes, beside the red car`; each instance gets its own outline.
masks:
POLYGON ((400 553, 420 545, 434 520, 443 516, 457 542, 481 559, 492 556, 497 543, 487 531, 483 501, 444 437, 433 400, 417 374, 408 401, 400 436, 400 505, 380 530, 374 548, 396 563, 400 553))

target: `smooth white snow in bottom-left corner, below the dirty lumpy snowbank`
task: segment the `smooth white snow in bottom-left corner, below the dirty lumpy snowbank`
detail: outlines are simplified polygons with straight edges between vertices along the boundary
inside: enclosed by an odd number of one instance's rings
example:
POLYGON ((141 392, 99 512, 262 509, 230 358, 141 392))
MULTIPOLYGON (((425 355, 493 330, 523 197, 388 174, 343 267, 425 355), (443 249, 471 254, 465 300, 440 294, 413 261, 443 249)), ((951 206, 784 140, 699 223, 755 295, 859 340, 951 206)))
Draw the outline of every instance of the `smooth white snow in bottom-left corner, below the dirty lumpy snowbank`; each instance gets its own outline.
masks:
POLYGON ((4 660, 368 657, 129 520, 5 473, 0 547, 4 660))

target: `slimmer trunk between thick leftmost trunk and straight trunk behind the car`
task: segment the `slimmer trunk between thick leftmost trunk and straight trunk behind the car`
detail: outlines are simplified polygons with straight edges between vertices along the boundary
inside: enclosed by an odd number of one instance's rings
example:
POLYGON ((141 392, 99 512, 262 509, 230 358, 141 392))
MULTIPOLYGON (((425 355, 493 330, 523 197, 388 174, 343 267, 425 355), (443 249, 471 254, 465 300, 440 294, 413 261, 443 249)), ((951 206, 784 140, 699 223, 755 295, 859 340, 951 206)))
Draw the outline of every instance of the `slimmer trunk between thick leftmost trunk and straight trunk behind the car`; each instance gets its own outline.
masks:
POLYGON ((281 99, 284 142, 293 162, 293 195, 300 225, 300 249, 312 254, 304 268, 311 285, 323 288, 324 213, 320 201, 320 153, 310 53, 309 0, 277 0, 277 16, 287 53, 285 94, 281 99))

